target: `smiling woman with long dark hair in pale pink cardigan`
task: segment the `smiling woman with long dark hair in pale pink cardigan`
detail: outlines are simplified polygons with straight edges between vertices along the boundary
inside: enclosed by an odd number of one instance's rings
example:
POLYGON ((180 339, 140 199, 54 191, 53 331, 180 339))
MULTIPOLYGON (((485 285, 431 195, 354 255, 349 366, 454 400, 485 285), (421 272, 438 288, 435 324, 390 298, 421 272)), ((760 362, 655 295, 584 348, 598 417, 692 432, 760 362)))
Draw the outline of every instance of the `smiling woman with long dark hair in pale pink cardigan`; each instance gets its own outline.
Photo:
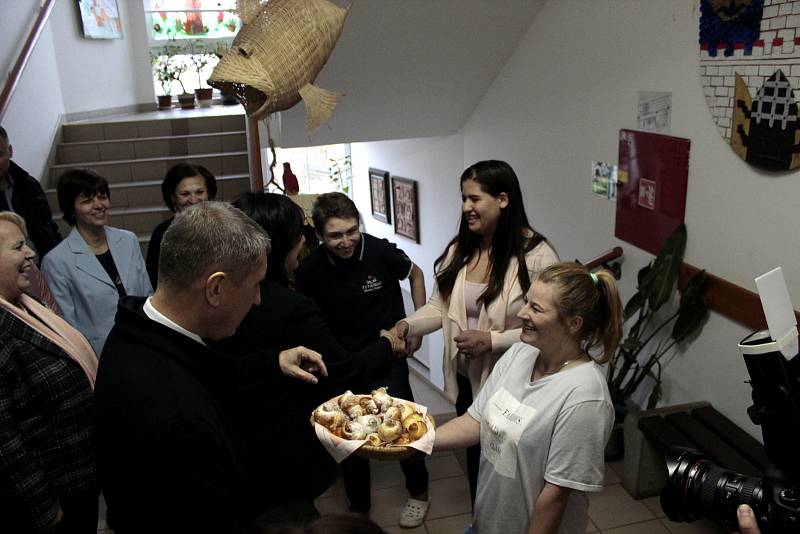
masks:
MULTIPOLYGON (((558 255, 525 215, 514 170, 480 161, 461 175, 461 223, 436 260, 436 285, 425 306, 395 325, 399 337, 444 334, 445 396, 466 413, 495 362, 519 341, 517 313, 535 275, 558 255), (524 265, 523 269, 519 266, 524 265)), ((475 501, 480 446, 467 449, 475 501)))

